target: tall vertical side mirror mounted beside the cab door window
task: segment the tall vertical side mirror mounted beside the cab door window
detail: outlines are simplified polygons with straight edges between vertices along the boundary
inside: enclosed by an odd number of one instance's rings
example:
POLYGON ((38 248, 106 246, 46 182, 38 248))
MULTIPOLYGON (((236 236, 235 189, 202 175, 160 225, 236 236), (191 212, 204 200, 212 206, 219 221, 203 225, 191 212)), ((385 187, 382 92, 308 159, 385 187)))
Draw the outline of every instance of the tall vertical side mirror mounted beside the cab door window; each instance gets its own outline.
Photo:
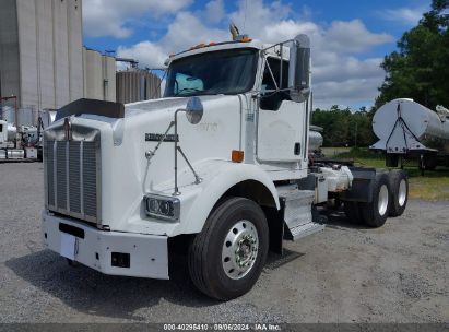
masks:
POLYGON ((297 35, 290 48, 288 63, 290 95, 294 102, 304 102, 310 93, 310 39, 297 35))

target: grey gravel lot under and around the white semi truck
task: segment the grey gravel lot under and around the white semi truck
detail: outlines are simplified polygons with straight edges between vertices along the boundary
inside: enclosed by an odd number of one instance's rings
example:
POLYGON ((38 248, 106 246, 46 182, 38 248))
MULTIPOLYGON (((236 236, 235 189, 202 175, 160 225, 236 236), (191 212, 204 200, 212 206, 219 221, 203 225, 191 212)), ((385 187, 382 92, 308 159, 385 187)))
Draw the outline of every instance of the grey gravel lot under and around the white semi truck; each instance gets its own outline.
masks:
POLYGON ((70 268, 40 244, 42 164, 0 164, 0 322, 448 322, 449 202, 411 201, 379 229, 336 215, 271 256, 229 303, 172 281, 70 268))

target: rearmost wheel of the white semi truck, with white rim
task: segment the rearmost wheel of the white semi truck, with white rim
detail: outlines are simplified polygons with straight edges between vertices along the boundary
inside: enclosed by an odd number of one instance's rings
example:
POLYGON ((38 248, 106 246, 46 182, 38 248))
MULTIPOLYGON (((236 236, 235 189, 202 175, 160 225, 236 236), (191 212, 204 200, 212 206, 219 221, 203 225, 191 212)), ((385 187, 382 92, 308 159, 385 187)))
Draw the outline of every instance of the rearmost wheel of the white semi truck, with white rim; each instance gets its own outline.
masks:
POLYGON ((388 176, 390 182, 390 216, 400 216, 406 206, 409 200, 409 179, 405 173, 400 169, 393 169, 388 176))

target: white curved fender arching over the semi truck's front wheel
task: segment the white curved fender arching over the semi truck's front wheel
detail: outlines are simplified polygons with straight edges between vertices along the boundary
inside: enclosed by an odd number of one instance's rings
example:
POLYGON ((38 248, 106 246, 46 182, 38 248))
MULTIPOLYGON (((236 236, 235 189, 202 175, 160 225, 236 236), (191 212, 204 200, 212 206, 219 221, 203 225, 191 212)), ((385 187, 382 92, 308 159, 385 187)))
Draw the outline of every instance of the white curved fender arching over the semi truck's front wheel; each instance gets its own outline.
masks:
POLYGON ((260 167, 228 161, 206 161, 194 167, 203 181, 196 185, 201 187, 200 190, 194 190, 196 194, 187 195, 187 200, 181 199, 181 223, 180 227, 175 230, 176 234, 200 233, 220 198, 229 188, 245 180, 253 180, 263 185, 271 192, 275 206, 280 210, 276 188, 260 167))

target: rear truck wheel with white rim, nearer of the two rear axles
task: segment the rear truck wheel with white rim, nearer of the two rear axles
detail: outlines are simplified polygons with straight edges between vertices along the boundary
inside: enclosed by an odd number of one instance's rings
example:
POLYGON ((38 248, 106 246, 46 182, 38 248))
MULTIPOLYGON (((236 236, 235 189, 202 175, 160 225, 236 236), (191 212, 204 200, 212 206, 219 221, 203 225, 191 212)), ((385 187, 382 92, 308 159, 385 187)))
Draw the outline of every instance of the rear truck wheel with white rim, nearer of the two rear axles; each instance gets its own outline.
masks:
POLYGON ((386 173, 378 173, 373 186, 373 201, 361 203, 362 220, 365 225, 380 227, 388 217, 390 205, 390 185, 386 173))

